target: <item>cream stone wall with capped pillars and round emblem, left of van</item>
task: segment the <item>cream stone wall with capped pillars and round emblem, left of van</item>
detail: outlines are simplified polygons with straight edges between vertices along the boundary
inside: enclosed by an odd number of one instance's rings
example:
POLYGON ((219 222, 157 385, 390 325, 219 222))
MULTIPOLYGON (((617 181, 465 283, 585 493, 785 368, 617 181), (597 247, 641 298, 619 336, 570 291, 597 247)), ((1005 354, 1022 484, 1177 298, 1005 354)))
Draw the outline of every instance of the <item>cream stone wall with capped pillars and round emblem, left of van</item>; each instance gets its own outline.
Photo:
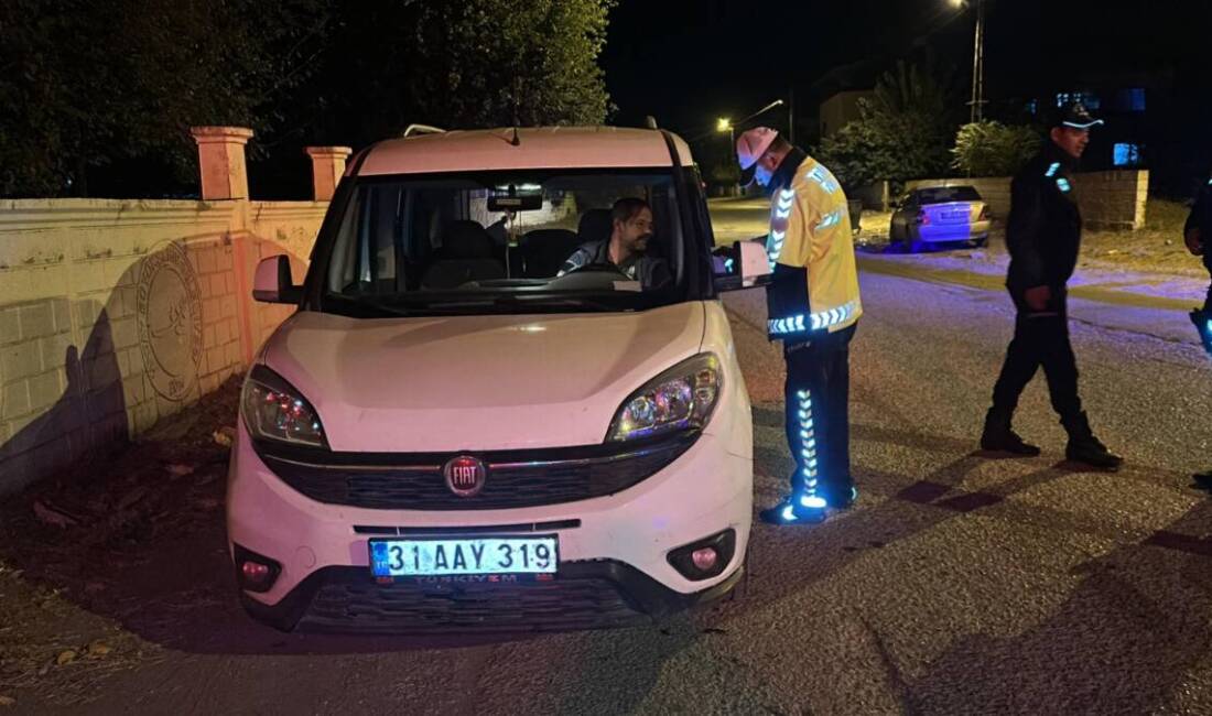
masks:
MULTIPOLYGON (((195 127, 201 201, 0 201, 0 494, 81 465, 247 368, 293 308, 349 149, 310 148, 315 201, 251 201, 240 127, 195 127)), ((234 416, 233 416, 234 419, 234 416)))

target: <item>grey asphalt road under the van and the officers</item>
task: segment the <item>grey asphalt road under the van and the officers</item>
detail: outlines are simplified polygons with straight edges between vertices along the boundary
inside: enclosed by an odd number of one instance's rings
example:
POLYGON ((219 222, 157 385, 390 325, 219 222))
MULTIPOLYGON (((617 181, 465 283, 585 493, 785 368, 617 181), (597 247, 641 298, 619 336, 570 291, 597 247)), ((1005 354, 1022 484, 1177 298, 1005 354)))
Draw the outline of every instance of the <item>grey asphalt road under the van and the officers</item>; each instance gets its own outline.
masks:
MULTIPOLYGON (((761 233, 762 216, 715 207, 721 236, 761 233)), ((737 598, 664 629, 522 641, 267 632, 257 648, 175 651, 114 676, 87 711, 1212 714, 1212 503, 1188 479, 1212 465, 1212 361, 1179 338, 1185 316, 1120 305, 1134 311, 1125 326, 1091 302, 1094 317, 1075 321, 1093 425, 1127 458, 1082 472, 1062 462, 1042 377, 1018 426, 1044 456, 973 453, 1011 333, 1004 293, 861 282, 859 503, 816 527, 755 526, 737 598)), ((727 303, 764 506, 790 468, 782 361, 761 293, 727 303)))

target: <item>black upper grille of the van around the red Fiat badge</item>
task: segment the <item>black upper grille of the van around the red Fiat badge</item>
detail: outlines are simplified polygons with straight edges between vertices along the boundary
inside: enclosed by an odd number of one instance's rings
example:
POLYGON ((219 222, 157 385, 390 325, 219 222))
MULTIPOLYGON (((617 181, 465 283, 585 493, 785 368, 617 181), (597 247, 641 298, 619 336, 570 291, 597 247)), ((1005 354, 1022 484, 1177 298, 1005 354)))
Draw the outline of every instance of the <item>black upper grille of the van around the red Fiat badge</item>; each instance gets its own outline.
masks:
POLYGON ((258 452, 284 482, 322 503, 383 510, 497 510, 614 494, 674 462, 694 439, 484 453, 476 457, 487 465, 487 477, 473 497, 454 494, 442 476, 441 465, 454 453, 302 454, 267 446, 258 446, 258 452))

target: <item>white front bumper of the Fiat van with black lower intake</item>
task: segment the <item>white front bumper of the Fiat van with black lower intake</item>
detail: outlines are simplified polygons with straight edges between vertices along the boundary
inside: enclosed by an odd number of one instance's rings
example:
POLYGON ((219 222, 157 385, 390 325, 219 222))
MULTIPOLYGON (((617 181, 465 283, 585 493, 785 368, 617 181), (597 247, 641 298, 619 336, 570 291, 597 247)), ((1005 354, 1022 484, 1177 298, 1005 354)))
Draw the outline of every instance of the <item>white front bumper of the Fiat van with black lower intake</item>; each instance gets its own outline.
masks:
POLYGON ((229 471, 228 538, 233 549, 239 545, 281 567, 270 589, 245 591, 242 601, 253 617, 279 629, 348 632, 562 630, 685 609, 727 592, 742 573, 753 463, 736 454, 748 446, 726 446, 720 436, 744 433, 704 434, 657 474, 607 497, 422 511, 315 502, 265 466, 241 424, 229 471), (558 535, 561 561, 554 580, 379 584, 370 572, 368 539, 375 535, 421 529, 519 534, 534 528, 558 535), (669 563, 671 550, 728 529, 734 550, 719 575, 691 580, 669 563))

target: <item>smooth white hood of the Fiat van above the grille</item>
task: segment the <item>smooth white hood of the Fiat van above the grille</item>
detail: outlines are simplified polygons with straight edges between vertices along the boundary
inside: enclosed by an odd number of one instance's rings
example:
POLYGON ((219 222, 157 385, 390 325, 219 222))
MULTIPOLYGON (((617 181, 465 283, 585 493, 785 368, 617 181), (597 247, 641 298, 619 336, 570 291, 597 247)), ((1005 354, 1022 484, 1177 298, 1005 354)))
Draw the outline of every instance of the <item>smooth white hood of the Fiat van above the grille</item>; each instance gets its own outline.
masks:
POLYGON ((373 320, 301 311, 263 361, 315 407, 333 451, 595 445, 631 391, 699 351, 703 327, 702 303, 373 320))

